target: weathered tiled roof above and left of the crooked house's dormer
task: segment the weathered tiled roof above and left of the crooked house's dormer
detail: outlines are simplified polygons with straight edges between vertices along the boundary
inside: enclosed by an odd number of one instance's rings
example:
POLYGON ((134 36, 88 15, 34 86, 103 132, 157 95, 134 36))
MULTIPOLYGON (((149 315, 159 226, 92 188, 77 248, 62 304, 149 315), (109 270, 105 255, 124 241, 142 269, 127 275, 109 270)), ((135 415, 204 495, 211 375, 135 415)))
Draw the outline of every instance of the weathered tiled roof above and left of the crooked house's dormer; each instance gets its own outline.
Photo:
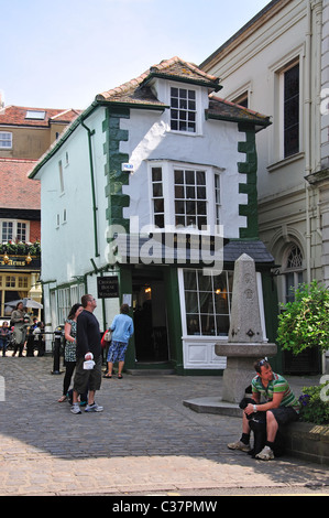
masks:
POLYGON ((180 57, 175 56, 171 60, 162 61, 158 65, 151 66, 135 79, 131 79, 117 88, 98 94, 96 96, 96 100, 146 104, 165 107, 166 105, 161 102, 150 88, 150 82, 155 77, 178 80, 180 83, 198 84, 207 86, 212 90, 221 88, 221 86, 219 86, 218 77, 206 74, 193 63, 185 62, 184 60, 180 60, 180 57))

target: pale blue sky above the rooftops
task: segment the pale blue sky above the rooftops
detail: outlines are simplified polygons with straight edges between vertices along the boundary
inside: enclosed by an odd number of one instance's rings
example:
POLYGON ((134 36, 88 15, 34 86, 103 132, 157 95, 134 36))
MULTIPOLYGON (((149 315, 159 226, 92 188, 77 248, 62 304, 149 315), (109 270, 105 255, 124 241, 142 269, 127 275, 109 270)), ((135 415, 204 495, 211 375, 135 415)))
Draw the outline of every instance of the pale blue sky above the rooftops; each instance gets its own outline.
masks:
POLYGON ((270 0, 0 0, 6 106, 85 109, 179 56, 200 65, 270 0))

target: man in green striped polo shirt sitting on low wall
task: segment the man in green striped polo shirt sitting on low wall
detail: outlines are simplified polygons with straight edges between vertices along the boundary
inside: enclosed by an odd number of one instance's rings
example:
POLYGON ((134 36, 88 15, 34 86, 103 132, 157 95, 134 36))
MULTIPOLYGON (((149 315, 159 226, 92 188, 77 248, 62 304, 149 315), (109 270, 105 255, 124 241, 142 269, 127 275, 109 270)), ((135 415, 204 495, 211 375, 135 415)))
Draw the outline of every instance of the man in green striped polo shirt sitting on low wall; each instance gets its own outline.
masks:
POLYGON ((248 404, 243 411, 242 436, 239 441, 228 444, 230 450, 249 452, 250 425, 246 416, 252 412, 266 412, 266 443, 256 458, 270 461, 274 458, 273 445, 279 424, 297 421, 299 401, 293 393, 287 380, 273 373, 267 359, 254 364, 256 376, 252 379, 252 398, 255 404, 248 404))

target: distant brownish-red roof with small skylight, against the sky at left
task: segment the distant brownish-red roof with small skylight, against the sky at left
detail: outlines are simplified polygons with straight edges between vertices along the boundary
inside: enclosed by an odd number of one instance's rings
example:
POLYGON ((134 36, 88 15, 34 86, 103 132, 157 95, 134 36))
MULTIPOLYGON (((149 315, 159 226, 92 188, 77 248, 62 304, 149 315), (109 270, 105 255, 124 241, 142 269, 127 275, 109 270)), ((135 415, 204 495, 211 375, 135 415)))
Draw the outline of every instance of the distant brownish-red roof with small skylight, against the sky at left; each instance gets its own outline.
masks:
POLYGON ((37 126, 48 127, 52 122, 69 123, 75 120, 81 110, 31 108, 26 106, 6 106, 0 109, 0 126, 37 126), (40 112, 42 118, 30 118, 29 112, 40 112), (28 116, 28 117, 26 117, 28 116))

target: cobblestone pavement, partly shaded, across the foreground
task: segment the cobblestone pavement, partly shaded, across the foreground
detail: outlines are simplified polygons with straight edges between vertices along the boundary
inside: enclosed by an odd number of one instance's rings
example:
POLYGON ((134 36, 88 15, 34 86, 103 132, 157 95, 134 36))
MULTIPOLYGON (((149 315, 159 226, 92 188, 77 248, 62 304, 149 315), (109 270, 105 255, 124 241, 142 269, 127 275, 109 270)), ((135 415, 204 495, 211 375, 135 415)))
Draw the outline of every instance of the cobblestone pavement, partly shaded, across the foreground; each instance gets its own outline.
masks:
MULTIPOLYGON (((103 412, 74 416, 67 402, 57 402, 64 375, 52 375, 52 368, 48 356, 0 357, 2 496, 220 495, 234 487, 329 485, 328 466, 288 456, 262 462, 228 450, 240 436, 240 419, 183 406, 220 393, 221 377, 102 379, 96 401, 103 412)), ((298 392, 316 382, 295 378, 293 385, 298 392)))

